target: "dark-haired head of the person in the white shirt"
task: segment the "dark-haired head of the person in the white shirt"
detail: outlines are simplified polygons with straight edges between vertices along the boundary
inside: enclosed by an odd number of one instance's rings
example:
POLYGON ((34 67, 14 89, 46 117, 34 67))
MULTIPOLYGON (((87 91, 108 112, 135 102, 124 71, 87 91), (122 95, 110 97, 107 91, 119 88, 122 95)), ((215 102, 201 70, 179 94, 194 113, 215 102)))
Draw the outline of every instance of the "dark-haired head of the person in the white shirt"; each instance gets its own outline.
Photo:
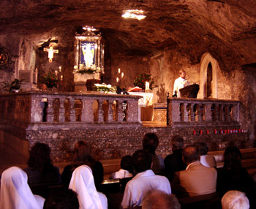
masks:
POLYGON ((132 155, 132 164, 136 172, 143 172, 151 169, 151 154, 145 150, 135 151, 132 155))

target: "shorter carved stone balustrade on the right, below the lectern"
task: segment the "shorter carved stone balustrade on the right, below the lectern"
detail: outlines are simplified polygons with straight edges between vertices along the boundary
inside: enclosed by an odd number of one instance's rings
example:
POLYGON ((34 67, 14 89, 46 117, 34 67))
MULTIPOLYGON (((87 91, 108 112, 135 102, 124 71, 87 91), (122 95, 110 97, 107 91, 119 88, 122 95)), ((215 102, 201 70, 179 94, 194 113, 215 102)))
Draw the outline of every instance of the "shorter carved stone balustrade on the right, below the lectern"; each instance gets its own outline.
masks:
POLYGON ((239 123, 239 102, 223 99, 167 98, 167 126, 239 123))

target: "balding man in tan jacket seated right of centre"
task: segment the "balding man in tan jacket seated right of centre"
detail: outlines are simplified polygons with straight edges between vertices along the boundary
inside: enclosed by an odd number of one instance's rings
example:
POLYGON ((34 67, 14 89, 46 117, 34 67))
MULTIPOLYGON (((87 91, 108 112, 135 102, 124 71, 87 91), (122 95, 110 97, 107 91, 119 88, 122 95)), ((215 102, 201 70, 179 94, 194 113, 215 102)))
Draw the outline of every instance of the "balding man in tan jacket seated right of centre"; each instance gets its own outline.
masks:
POLYGON ((182 154, 187 168, 175 173, 171 183, 173 193, 178 198, 214 193, 217 170, 200 163, 200 153, 195 146, 187 146, 182 154))

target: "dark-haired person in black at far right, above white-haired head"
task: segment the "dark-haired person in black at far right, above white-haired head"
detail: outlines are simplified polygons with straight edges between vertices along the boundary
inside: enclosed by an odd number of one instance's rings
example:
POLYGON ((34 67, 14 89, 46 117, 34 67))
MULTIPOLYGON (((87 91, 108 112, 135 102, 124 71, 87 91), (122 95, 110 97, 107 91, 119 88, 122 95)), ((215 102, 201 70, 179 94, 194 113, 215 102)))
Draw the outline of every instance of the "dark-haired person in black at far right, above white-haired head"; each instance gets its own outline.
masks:
POLYGON ((230 190, 250 192, 252 178, 241 165, 242 155, 235 146, 227 147, 224 153, 224 167, 218 169, 217 191, 225 194, 230 190))

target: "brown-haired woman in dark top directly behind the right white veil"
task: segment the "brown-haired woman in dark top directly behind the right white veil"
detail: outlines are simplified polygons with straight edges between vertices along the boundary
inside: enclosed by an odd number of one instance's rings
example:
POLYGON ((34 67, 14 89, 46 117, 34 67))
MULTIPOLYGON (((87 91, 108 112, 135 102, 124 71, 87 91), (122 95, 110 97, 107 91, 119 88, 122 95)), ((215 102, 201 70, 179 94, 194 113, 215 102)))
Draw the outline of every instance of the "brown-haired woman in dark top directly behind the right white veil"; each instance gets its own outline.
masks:
POLYGON ((86 141, 79 141, 75 144, 73 151, 73 163, 67 165, 61 174, 62 183, 64 186, 69 186, 72 172, 82 164, 86 164, 91 167, 96 189, 99 189, 104 175, 103 166, 100 161, 96 161, 94 157, 91 156, 91 145, 89 145, 89 143, 86 141))

